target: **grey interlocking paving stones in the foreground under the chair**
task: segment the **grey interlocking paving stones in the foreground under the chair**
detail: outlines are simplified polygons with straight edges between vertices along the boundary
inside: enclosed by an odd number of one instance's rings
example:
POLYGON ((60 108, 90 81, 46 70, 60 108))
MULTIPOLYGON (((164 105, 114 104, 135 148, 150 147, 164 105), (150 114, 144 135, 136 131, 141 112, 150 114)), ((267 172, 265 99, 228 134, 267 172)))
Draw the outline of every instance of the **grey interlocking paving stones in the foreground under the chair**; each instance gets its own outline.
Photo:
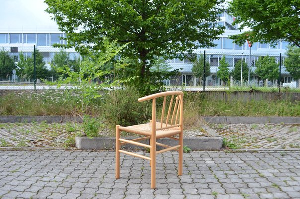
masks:
MULTIPOLYGON (((143 154, 143 152, 140 152, 143 154)), ((300 151, 192 152, 158 155, 157 188, 148 161, 112 151, 0 150, 0 198, 300 199, 300 151)))

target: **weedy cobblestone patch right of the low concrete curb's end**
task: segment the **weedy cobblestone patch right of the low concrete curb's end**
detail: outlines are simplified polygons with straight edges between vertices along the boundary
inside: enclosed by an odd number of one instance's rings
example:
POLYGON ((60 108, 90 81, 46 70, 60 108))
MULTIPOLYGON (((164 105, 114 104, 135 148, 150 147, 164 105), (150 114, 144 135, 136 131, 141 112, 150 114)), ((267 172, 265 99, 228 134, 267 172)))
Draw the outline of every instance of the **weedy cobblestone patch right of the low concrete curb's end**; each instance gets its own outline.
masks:
POLYGON ((300 124, 211 124, 234 148, 300 148, 300 124))

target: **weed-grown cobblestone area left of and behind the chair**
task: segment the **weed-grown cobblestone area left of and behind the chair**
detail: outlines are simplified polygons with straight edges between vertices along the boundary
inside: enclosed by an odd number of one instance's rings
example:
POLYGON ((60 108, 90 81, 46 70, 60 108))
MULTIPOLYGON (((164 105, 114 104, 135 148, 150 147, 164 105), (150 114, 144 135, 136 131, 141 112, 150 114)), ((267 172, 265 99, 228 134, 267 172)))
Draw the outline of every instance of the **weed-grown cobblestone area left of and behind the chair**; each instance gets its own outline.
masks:
MULTIPOLYGON (((104 129, 101 136, 115 136, 115 132, 104 129)), ((0 123, 0 147, 70 147, 72 139, 83 134, 78 123, 0 123)), ((202 128, 185 130, 184 135, 210 136, 202 128)))

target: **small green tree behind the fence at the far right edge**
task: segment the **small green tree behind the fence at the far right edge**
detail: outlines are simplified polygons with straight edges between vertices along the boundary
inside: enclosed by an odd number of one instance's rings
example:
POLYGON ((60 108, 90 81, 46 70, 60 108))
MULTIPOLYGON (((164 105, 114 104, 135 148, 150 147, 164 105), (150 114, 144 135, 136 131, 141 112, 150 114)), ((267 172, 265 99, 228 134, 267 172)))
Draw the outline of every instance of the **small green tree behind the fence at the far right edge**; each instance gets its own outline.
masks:
POLYGON ((289 46, 284 65, 294 80, 300 78, 300 48, 289 46))

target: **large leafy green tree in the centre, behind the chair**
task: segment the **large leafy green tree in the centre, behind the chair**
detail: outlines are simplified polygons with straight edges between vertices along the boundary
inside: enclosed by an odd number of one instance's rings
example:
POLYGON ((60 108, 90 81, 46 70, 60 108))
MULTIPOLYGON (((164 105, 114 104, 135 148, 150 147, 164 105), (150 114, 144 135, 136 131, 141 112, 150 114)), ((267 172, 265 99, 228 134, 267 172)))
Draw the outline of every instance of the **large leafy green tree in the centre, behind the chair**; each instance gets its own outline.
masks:
POLYGON ((103 49, 101 41, 128 43, 121 54, 138 60, 134 75, 150 80, 155 57, 184 58, 183 52, 214 46, 224 32, 217 24, 224 0, 45 0, 66 47, 81 54, 103 49), (220 6, 219 6, 220 5, 220 6))

